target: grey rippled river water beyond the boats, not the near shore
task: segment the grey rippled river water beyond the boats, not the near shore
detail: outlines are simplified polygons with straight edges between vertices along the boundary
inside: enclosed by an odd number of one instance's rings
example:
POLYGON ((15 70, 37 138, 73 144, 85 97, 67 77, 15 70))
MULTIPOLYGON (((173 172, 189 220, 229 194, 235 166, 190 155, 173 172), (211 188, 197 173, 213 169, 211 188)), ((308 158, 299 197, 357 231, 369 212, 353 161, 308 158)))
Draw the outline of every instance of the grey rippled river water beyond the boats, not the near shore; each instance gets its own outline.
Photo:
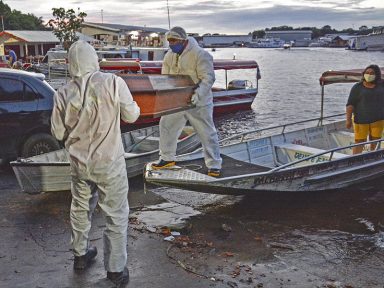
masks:
MULTIPOLYGON (((319 78, 327 70, 384 66, 384 53, 357 52, 339 48, 255 49, 223 48, 210 52, 214 58, 256 60, 260 66, 259 94, 253 111, 228 115, 217 122, 220 132, 235 133, 246 129, 285 124, 320 116, 319 78), (235 119, 235 121, 234 121, 235 119)), ((230 79, 254 77, 249 70, 229 71, 230 79)), ((222 74, 224 75, 224 74, 222 74)), ((218 73, 217 82, 223 81, 218 73)), ((325 87, 325 115, 344 112, 351 84, 325 87)))

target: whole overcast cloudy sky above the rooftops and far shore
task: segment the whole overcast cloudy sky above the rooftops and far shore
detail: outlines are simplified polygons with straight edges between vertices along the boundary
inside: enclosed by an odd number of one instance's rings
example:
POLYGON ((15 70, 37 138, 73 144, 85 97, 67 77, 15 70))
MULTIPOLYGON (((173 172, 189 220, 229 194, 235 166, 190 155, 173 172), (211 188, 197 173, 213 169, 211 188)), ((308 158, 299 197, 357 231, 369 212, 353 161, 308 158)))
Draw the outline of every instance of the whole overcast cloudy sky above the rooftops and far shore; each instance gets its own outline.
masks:
MULTIPOLYGON (((43 20, 52 8, 86 12, 88 22, 168 29, 166 0, 3 0, 43 20)), ((335 29, 384 25, 384 0, 169 0, 171 26, 187 32, 247 34, 273 26, 335 29)))

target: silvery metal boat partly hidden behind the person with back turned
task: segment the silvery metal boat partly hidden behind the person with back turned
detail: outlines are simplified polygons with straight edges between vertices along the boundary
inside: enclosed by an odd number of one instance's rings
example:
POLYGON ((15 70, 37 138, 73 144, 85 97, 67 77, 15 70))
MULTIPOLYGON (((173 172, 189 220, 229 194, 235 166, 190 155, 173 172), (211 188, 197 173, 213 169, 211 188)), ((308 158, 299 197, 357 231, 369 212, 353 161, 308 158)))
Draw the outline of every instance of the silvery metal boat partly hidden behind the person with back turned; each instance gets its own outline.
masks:
MULTIPOLYGON (((145 163, 159 157, 159 127, 152 126, 122 134, 128 177, 140 175, 145 163)), ((200 140, 193 128, 186 126, 177 142, 177 153, 196 149, 200 140)), ((10 163, 22 191, 37 194, 70 190, 71 177, 65 149, 10 163)))

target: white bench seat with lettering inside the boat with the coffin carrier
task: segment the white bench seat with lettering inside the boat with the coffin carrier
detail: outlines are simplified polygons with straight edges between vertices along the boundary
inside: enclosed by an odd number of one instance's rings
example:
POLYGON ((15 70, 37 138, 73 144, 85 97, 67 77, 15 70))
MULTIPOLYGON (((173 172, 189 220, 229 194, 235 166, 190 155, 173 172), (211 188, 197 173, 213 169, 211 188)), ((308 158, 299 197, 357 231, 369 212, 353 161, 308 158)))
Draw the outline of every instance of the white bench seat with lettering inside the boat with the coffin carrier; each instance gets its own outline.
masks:
MULTIPOLYGON (((308 147, 304 145, 292 144, 292 143, 282 143, 275 145, 276 151, 276 160, 279 164, 286 164, 293 161, 298 161, 306 157, 325 152, 326 150, 308 147)), ((314 158, 311 158, 307 161, 298 163, 298 166, 314 164, 319 162, 325 162, 330 160, 331 153, 323 154, 314 158)), ((332 154, 332 159, 340 159, 346 157, 347 155, 342 153, 334 152, 332 154)))

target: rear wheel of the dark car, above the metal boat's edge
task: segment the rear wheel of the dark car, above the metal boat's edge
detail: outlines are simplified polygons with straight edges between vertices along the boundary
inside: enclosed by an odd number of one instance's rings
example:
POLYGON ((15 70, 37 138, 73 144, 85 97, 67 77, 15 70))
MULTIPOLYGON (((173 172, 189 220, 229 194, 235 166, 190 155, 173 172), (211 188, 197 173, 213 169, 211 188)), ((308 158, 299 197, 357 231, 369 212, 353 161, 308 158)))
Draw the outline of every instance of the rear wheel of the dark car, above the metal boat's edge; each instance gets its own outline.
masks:
POLYGON ((58 149, 60 149, 59 142, 52 135, 39 133, 32 135, 24 142, 21 157, 32 157, 58 149))

